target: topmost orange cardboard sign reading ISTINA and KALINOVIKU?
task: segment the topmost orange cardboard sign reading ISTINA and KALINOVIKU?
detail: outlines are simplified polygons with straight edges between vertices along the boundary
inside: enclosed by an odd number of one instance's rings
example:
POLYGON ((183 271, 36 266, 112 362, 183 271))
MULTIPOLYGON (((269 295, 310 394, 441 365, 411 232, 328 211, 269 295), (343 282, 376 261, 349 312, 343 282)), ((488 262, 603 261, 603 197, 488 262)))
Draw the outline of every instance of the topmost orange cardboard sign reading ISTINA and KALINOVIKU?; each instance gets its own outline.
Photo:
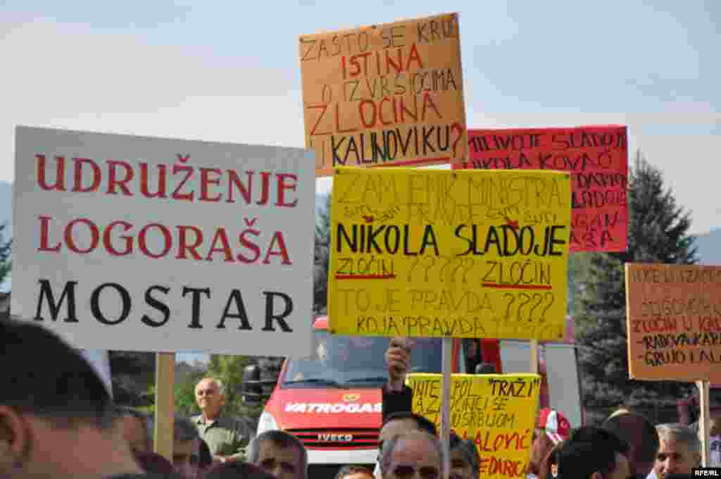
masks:
POLYGON ((302 35, 298 43, 316 176, 336 166, 467 158, 458 14, 302 35))

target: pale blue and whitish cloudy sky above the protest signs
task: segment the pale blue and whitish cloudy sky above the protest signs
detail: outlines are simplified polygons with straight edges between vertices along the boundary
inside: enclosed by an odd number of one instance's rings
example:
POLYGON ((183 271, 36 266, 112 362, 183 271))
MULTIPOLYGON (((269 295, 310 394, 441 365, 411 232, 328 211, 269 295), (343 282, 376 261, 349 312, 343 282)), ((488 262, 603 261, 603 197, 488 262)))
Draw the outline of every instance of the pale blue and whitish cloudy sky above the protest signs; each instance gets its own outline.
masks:
POLYGON ((446 12, 470 128, 626 124, 691 233, 721 227, 715 0, 5 0, 0 180, 17 125, 302 147, 299 35, 446 12))

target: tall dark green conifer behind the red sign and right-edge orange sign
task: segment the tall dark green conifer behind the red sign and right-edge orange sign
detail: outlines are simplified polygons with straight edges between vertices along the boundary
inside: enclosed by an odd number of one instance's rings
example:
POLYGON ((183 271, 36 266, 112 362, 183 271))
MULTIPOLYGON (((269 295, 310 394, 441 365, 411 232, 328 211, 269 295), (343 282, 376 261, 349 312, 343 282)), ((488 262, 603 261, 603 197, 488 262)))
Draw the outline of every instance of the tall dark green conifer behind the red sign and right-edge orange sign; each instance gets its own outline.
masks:
POLYGON ((583 278, 576 281, 579 364, 589 410, 670 405, 686 390, 679 382, 629 379, 624 263, 695 263, 691 215, 640 151, 629 169, 628 203, 627 251, 587 253, 583 278))

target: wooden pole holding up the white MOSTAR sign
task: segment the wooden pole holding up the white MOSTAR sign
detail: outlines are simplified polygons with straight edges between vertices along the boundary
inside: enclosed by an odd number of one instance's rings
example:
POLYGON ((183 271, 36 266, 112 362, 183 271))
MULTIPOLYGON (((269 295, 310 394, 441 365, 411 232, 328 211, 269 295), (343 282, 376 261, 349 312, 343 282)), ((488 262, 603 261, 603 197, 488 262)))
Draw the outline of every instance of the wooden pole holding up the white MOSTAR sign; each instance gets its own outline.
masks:
POLYGON ((155 387, 154 450, 172 463, 175 428, 175 353, 156 354, 155 387))

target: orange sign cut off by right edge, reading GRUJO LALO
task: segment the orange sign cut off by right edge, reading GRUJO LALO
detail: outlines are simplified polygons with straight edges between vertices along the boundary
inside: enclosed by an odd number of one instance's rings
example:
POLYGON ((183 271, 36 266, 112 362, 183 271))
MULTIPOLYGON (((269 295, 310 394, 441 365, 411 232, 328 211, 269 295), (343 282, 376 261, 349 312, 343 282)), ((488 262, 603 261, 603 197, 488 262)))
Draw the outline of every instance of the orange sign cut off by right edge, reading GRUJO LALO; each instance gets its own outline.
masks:
POLYGON ((626 265, 631 379, 721 382, 721 266, 626 265))

